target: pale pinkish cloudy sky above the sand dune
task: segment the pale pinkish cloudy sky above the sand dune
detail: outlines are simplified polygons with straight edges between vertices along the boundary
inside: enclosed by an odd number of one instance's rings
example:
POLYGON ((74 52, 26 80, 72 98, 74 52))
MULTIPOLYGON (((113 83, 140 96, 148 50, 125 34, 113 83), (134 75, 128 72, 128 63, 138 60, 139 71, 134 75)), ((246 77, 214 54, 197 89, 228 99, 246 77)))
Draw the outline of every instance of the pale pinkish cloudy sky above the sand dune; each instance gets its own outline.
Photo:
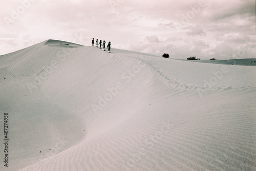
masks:
POLYGON ((2 0, 0 55, 57 39, 186 59, 255 58, 254 0, 2 0))

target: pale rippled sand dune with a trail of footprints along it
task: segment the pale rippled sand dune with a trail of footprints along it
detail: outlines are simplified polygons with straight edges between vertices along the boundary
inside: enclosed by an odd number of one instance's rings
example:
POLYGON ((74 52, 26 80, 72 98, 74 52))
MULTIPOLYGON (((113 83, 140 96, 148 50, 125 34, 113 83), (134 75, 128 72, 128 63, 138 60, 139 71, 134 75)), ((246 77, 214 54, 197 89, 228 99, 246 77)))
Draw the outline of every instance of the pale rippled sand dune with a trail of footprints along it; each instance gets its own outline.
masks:
POLYGON ((0 56, 0 169, 256 170, 255 73, 57 40, 0 56))

